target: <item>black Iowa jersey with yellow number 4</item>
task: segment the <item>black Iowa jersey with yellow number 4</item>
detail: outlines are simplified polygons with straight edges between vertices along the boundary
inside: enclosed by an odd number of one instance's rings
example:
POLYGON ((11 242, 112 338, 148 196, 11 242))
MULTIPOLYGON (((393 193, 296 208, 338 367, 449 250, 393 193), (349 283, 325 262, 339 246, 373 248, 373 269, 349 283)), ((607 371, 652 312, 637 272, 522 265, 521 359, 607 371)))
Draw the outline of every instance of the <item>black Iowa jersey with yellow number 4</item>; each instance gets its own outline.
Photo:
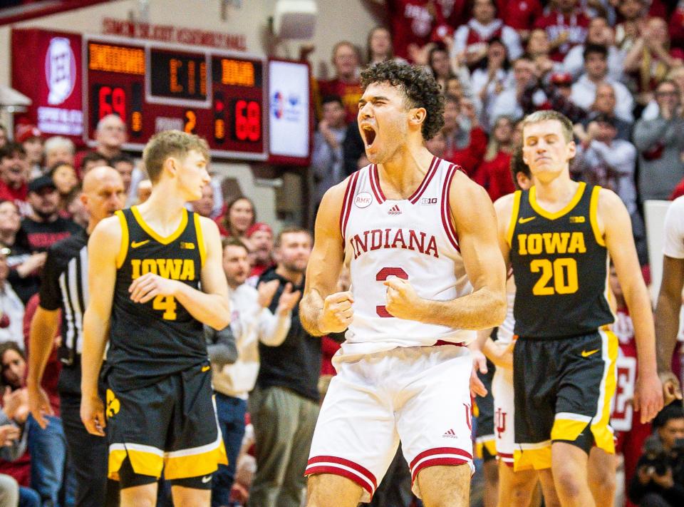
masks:
POLYGON ((125 390, 207 361, 202 324, 174 297, 157 296, 141 304, 128 292, 131 282, 147 272, 197 289, 204 241, 199 215, 185 209, 178 229, 167 237, 150 229, 135 206, 116 214, 123 235, 107 359, 110 384, 125 390))

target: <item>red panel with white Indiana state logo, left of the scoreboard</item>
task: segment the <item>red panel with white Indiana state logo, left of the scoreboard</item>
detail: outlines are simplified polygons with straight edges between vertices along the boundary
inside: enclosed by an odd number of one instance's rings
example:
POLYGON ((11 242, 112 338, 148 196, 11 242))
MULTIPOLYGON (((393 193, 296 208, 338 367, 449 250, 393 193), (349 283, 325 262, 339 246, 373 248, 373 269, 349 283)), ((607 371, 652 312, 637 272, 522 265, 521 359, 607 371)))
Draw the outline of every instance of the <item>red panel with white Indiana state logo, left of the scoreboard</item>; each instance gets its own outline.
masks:
POLYGON ((11 53, 12 87, 33 101, 17 120, 83 143, 81 36, 13 30, 11 53))

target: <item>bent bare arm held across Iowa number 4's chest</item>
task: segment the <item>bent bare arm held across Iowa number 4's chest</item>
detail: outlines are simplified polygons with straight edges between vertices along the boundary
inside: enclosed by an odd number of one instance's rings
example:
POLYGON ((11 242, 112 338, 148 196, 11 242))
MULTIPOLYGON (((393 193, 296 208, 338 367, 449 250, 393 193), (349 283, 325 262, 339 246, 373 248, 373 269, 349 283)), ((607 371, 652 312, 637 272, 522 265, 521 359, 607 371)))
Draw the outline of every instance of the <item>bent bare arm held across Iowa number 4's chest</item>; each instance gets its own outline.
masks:
POLYGON ((147 273, 133 280, 129 288, 130 299, 146 303, 157 295, 172 296, 202 324, 223 329, 230 322, 230 303, 228 284, 221 265, 221 237, 212 220, 200 217, 199 223, 207 252, 202 266, 202 290, 193 289, 178 280, 147 273))

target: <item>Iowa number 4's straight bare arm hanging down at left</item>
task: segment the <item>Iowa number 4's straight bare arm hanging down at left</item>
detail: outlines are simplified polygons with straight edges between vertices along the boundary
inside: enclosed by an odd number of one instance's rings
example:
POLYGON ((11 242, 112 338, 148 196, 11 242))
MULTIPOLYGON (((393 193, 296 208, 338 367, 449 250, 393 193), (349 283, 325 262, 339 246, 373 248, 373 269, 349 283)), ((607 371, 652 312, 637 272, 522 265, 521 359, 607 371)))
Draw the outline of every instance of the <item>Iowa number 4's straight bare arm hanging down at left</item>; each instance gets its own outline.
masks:
POLYGON ((81 421, 93 435, 105 436, 104 405, 98 396, 98 377, 108 342, 112 301, 116 282, 116 257, 121 244, 118 217, 108 217, 93 230, 88 240, 88 287, 90 301, 83 315, 81 353, 81 421))

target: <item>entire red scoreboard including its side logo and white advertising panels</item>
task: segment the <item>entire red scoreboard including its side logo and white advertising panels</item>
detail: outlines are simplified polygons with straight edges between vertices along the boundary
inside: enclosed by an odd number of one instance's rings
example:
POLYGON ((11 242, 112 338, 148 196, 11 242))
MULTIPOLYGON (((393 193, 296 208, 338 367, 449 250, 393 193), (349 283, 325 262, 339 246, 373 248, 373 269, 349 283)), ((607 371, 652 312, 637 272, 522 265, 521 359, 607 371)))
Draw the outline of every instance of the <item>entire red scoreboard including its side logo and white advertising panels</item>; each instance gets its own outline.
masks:
POLYGON ((16 122, 95 145, 108 114, 126 150, 162 130, 207 140, 212 156, 308 165, 313 108, 307 63, 118 36, 12 29, 11 83, 31 98, 16 122))

